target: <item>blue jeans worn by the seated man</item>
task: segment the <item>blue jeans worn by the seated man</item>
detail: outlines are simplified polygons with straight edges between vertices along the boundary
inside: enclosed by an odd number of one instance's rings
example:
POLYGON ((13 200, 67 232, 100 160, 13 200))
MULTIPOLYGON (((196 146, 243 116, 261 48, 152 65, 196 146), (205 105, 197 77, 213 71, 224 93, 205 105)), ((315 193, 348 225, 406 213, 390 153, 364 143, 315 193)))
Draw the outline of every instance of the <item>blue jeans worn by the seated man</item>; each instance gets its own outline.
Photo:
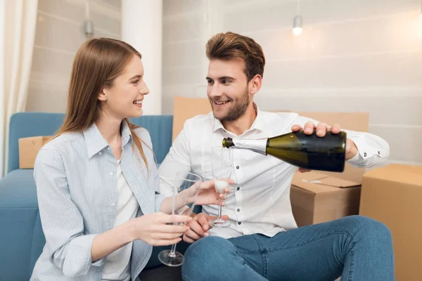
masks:
POLYGON ((390 230, 365 216, 274 237, 204 237, 188 247, 181 272, 185 281, 395 280, 390 230))

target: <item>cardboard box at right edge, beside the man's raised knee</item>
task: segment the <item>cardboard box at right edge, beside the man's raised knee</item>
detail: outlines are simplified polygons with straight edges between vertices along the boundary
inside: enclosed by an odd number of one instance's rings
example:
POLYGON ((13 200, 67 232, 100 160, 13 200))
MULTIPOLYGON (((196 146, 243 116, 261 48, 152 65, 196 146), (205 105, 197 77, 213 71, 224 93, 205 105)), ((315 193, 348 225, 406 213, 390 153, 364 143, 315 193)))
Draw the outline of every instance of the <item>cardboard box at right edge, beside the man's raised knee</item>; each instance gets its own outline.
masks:
POLYGON ((396 280, 422 280, 422 166, 391 164, 366 173, 359 214, 390 228, 396 280))

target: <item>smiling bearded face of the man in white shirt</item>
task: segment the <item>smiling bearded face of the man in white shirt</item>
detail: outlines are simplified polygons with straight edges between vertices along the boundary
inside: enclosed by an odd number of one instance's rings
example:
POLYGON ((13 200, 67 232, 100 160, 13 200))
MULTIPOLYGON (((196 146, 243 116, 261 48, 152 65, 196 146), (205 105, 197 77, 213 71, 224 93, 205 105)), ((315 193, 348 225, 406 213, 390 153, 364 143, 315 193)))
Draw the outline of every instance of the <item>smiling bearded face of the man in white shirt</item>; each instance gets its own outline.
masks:
POLYGON ((220 121, 235 121, 252 107, 252 94, 243 60, 210 60, 207 96, 220 121))

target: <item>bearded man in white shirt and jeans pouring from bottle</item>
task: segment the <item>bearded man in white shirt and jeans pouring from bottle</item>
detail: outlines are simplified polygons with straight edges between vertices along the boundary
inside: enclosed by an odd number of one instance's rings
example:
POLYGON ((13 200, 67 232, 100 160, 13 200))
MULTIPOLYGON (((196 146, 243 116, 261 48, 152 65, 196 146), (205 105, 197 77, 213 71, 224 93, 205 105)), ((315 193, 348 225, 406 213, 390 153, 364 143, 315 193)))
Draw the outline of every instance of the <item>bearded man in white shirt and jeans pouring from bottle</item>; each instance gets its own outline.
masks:
MULTIPOLYGON (((227 32, 206 46, 207 96, 212 112, 188 119, 160 166, 161 192, 171 194, 178 171, 212 178, 211 147, 226 137, 267 138, 304 129, 323 137, 324 123, 295 113, 261 111, 253 97, 262 85, 265 59, 254 40, 227 32)), ((345 130, 347 131, 347 130, 345 130)), ((373 166, 389 146, 371 133, 347 131, 347 162, 373 166)), ((295 166, 248 150, 234 150, 236 186, 223 213, 229 228, 210 229, 217 206, 204 206, 184 234, 184 280, 394 280, 390 230, 364 216, 298 228, 290 207, 295 166)))

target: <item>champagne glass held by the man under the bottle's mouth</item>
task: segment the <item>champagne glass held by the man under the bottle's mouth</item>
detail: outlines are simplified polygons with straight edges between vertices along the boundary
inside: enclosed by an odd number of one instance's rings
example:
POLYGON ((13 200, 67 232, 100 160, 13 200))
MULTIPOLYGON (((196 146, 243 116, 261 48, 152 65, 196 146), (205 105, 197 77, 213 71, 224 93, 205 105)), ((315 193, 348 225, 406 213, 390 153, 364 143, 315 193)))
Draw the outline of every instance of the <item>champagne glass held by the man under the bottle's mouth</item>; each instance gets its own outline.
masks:
MULTIPOLYGON (((215 190, 218 194, 224 193, 226 188, 230 187, 229 179, 233 171, 233 151, 228 148, 213 147, 212 152, 212 179, 215 183, 215 190)), ((216 228, 226 228, 231 225, 230 221, 222 218, 222 205, 218 207, 218 216, 214 220, 209 221, 210 226, 216 228)))

